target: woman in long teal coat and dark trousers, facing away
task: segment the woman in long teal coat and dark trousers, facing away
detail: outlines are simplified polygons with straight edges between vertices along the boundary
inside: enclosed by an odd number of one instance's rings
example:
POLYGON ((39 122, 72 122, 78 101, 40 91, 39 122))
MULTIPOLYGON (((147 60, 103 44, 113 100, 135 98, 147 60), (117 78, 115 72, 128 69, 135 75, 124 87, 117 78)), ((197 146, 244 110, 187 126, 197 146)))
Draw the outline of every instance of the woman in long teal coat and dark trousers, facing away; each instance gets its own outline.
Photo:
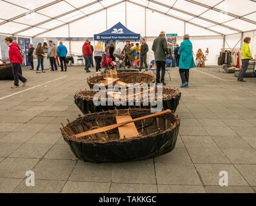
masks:
POLYGON ((181 53, 181 57, 179 59, 179 74, 181 75, 182 81, 181 88, 188 88, 190 69, 195 67, 195 62, 193 60, 193 46, 190 41, 190 35, 184 35, 183 42, 179 48, 179 53, 181 53))

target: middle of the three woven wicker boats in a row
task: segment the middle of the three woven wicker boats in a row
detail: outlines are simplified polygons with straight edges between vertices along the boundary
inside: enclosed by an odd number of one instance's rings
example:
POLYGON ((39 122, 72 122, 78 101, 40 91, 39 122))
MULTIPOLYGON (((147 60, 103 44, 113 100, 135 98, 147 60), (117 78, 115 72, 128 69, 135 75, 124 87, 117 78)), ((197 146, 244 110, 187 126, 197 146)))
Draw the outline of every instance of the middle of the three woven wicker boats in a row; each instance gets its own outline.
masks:
MULTIPOLYGON (((94 95, 97 93, 97 91, 94 90, 83 90, 83 91, 78 91, 75 93, 74 98, 75 98, 75 104, 77 107, 83 112, 83 114, 87 114, 89 112, 95 113, 99 111, 108 111, 109 109, 128 109, 130 108, 150 108, 152 105, 150 105, 150 100, 148 100, 149 104, 148 106, 144 106, 143 102, 144 99, 141 98, 139 101, 139 104, 136 104, 136 99, 135 97, 133 98, 133 106, 129 106, 126 104, 125 106, 109 106, 108 105, 108 99, 106 98, 106 106, 99 105, 95 106, 94 105, 94 95)), ((135 93, 135 91, 134 91, 135 93)), ((106 93, 106 97, 108 97, 106 93)), ((141 95, 143 97, 143 95, 141 95)), ((155 88, 155 97, 157 97, 157 87, 155 88)), ((127 90, 127 95, 126 98, 128 99, 128 90, 127 90)), ((181 99, 181 93, 179 92, 179 89, 175 88, 162 88, 162 108, 164 110, 170 109, 172 111, 176 111, 177 107, 179 106, 179 100, 181 99)), ((127 100, 128 102, 128 100, 127 100)))

